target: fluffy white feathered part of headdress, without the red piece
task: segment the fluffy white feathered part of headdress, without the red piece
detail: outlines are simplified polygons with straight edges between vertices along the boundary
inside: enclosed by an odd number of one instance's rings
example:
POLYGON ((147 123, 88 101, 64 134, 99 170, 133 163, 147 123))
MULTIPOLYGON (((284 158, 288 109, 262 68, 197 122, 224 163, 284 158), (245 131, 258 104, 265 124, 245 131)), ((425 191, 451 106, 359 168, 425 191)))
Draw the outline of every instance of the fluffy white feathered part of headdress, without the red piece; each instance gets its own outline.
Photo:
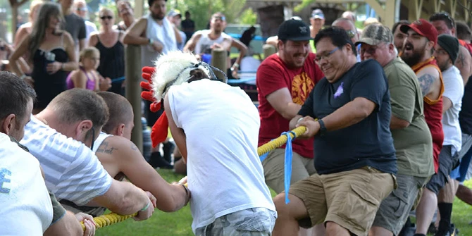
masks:
MULTIPOLYGON (((213 70, 218 69, 204 62, 197 61, 195 55, 190 52, 170 51, 168 54, 159 56, 155 64, 156 70, 152 75, 152 90, 156 101, 161 101, 170 86, 182 85, 190 80, 192 70, 200 69, 211 80, 218 80, 213 73, 213 70)), ((223 73, 223 75, 225 74, 223 73)), ((225 77, 223 82, 226 82, 226 80, 225 77)))

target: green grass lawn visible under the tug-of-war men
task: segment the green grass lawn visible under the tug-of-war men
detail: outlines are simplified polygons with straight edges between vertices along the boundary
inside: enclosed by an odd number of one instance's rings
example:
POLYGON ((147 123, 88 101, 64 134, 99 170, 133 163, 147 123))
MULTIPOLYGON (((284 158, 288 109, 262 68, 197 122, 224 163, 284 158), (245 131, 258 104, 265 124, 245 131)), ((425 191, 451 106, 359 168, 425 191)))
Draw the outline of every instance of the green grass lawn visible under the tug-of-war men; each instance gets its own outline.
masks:
MULTIPOLYGON (((175 175, 172 170, 159 170, 162 177, 168 182, 178 181, 182 175, 175 175)), ((472 187, 472 181, 466 182, 472 187)), ((272 192, 274 195, 275 193, 272 192)), ((459 228, 459 235, 472 235, 472 206, 456 199, 452 211, 452 222, 459 228)), ((97 236, 121 236, 121 235, 159 235, 159 236, 190 236, 192 233, 192 216, 190 206, 175 213, 164 213, 156 210, 147 221, 137 222, 132 219, 116 223, 97 230, 97 236)))

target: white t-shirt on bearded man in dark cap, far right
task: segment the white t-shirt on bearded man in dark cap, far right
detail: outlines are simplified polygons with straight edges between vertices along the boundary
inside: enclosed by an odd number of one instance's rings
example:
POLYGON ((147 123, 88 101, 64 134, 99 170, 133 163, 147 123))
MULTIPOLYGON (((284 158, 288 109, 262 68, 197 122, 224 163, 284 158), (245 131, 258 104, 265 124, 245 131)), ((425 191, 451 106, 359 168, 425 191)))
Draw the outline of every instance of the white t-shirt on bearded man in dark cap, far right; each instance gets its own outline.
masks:
POLYGON ((461 111, 462 96, 464 96, 464 81, 459 69, 455 66, 442 71, 442 80, 444 82, 442 97, 447 97, 452 101, 452 106, 442 114, 442 131, 444 132, 442 145, 452 145, 456 151, 461 151, 462 133, 459 125, 459 111, 461 111))

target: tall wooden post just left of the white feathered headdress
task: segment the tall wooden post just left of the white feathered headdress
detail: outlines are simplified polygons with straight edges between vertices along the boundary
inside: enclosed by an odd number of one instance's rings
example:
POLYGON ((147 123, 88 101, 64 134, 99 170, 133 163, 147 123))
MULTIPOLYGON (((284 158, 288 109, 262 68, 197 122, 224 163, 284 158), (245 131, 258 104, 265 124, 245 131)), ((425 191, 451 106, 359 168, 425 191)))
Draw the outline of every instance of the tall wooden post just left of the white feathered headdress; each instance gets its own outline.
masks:
POLYGON ((141 124, 141 46, 128 44, 125 49, 125 76, 126 99, 130 101, 132 112, 135 114, 135 127, 132 128, 131 141, 136 144, 139 151, 142 148, 142 124, 141 124))

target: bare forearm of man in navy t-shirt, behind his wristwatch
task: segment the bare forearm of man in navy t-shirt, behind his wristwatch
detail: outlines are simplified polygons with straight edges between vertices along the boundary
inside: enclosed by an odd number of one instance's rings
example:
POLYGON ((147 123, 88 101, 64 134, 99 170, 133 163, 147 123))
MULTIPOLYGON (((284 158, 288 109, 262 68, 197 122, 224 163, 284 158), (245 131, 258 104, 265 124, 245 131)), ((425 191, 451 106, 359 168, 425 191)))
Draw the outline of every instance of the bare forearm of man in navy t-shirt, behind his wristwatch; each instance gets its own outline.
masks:
POLYGON ((326 130, 334 131, 359 123, 369 115, 370 113, 366 111, 364 106, 357 104, 356 101, 350 101, 335 112, 325 116, 323 122, 326 130))

